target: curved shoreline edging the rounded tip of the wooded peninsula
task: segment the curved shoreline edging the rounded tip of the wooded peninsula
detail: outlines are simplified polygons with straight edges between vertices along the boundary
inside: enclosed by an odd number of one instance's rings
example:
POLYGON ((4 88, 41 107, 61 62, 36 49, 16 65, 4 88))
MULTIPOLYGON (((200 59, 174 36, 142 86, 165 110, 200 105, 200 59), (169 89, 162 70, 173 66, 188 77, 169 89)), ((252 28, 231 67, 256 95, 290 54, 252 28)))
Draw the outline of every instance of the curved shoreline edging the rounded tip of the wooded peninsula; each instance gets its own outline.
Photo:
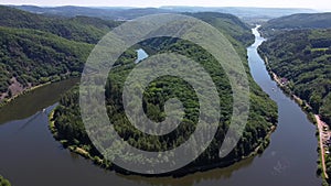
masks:
MULTIPOLYGON (((138 176, 143 176, 143 177, 174 177, 174 178, 175 177, 184 177, 186 175, 194 174, 194 173, 197 173, 197 172, 207 172, 207 171, 215 169, 215 168, 225 168, 225 167, 232 166, 232 165, 234 165, 236 163, 239 163, 244 160, 247 160, 249 157, 261 154, 264 152, 264 150, 269 145, 270 136, 275 132, 275 130, 277 129, 277 124, 273 124, 269 128, 269 131, 266 134, 266 136, 263 139, 261 143, 259 145, 257 145, 255 147, 255 150, 253 152, 250 152, 248 155, 242 156, 241 158, 235 158, 233 161, 227 161, 227 162, 220 162, 220 163, 215 163, 215 164, 211 164, 211 165, 188 167, 188 168, 185 168, 185 171, 180 168, 180 169, 178 169, 175 172, 171 172, 171 173, 159 174, 159 175, 148 175, 148 174, 137 174, 137 173, 128 172, 126 169, 122 169, 122 168, 116 166, 115 164, 111 164, 111 162, 110 162, 111 166, 109 166, 109 167, 104 166, 104 162, 106 160, 104 160, 99 156, 90 155, 90 153, 88 151, 85 151, 81 146, 67 145, 66 144, 67 140, 58 139, 58 136, 57 136, 57 129, 56 129, 55 123, 54 123, 55 109, 56 108, 54 108, 49 114, 49 122, 50 122, 49 129, 50 129, 53 138, 57 142, 60 142, 63 145, 64 149, 67 149, 71 152, 76 153, 76 154, 81 155, 82 157, 90 161, 92 163, 94 163, 96 166, 98 166, 102 169, 110 171, 110 172, 114 171, 115 173, 119 173, 119 174, 122 174, 122 175, 138 175, 138 176), (263 149, 263 150, 260 151, 260 149, 263 149)), ((189 164, 189 166, 190 166, 190 164, 189 164)))

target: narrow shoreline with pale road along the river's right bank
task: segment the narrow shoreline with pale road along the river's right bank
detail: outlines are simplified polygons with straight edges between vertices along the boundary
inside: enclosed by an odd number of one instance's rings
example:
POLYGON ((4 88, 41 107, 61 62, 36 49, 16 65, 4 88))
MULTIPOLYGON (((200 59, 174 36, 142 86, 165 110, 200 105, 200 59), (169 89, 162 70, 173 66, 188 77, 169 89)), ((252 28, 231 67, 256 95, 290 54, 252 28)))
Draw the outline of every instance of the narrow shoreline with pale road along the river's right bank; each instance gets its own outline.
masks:
MULTIPOLYGON (((264 54, 261 53, 259 55, 264 55, 264 54)), ((292 100, 296 101, 296 103, 306 113, 307 118, 311 121, 311 123, 317 127, 318 149, 320 147, 320 150, 318 150, 319 160, 320 160, 320 163, 318 163, 318 165, 322 166, 322 173, 321 173, 322 178, 329 183, 329 175, 327 174, 324 147, 323 147, 323 142, 322 142, 322 138, 321 138, 322 130, 319 128, 319 122, 324 122, 324 121, 322 121, 318 114, 316 114, 311 111, 311 107, 306 101, 303 101, 297 95, 292 94, 286 85, 281 84, 278 75, 271 70, 271 68, 268 64, 268 58, 265 55, 261 58, 264 58, 265 65, 267 67, 267 70, 268 70, 271 79, 276 81, 277 86, 284 91, 285 95, 289 96, 292 100)))

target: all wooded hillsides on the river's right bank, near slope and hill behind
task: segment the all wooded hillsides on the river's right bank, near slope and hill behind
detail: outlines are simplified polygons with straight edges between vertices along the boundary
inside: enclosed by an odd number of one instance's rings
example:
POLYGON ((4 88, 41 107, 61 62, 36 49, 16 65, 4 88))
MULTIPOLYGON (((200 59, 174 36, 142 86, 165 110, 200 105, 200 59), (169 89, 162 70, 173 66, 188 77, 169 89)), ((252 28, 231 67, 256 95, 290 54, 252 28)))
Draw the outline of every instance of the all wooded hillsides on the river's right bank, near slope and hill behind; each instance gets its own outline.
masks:
MULTIPOLYGON (((260 28, 268 40, 259 47, 285 90, 303 99, 302 107, 331 124, 331 13, 293 14, 260 28), (307 107, 307 103, 309 107, 307 107)), ((325 155, 331 175, 331 155, 325 155)), ((330 183, 330 179, 328 180, 330 183)))

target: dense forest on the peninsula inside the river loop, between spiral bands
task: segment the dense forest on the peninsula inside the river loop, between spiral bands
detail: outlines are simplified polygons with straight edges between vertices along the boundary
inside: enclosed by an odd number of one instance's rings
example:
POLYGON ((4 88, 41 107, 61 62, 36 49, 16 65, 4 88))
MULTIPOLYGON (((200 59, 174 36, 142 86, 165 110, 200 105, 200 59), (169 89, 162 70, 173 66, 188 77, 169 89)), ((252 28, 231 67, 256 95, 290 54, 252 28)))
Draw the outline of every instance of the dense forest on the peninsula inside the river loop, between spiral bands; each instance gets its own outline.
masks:
MULTIPOLYGON (((228 14, 196 13, 192 15, 213 24, 228 37, 241 55, 248 73, 245 45, 247 46, 249 42, 252 43, 254 41, 249 28, 237 18, 228 14)), ((143 41, 139 43, 139 45, 152 51, 152 53, 178 53, 200 63, 211 75, 217 87, 220 99, 222 100, 222 119, 214 140, 199 158, 179 172, 199 169, 197 167, 210 165, 225 166, 249 155, 258 146, 260 146, 259 152, 263 152, 264 147, 268 144, 268 140, 265 138, 271 132, 273 125, 277 123, 277 106, 263 92, 257 84, 254 83, 249 74, 250 112, 248 123, 237 147, 226 157, 220 158, 218 151, 224 134, 228 129, 233 101, 228 79, 220 64, 200 46, 181 40, 159 37, 143 41)), ((119 66, 113 68, 110 72, 106 85, 106 102, 109 119, 115 123, 115 129, 119 135, 134 146, 147 151, 164 151, 175 147, 184 142, 195 129, 199 117, 196 95, 192 87, 182 79, 172 76, 156 79, 143 92, 142 107, 147 116, 153 121, 162 121, 164 119, 164 102, 170 98, 178 97, 184 106, 184 119, 178 129, 161 136, 148 135, 132 128, 124 112, 121 91, 126 77, 136 66, 134 63, 136 58, 137 54, 134 48, 127 51, 118 59, 117 64, 119 66)), ((79 116, 78 87, 75 87, 62 97, 60 106, 54 111, 53 132, 57 140, 61 140, 64 145, 81 152, 81 154, 93 158, 96 164, 100 164, 105 168, 116 168, 120 171, 120 168, 111 165, 110 162, 103 160, 103 156, 93 146, 84 130, 84 124, 79 116)), ((111 136, 109 136, 108 140, 111 142, 111 136)), ((125 150, 120 147, 118 151, 125 152, 125 150)), ((128 158, 141 161, 139 157, 128 156, 128 158)))

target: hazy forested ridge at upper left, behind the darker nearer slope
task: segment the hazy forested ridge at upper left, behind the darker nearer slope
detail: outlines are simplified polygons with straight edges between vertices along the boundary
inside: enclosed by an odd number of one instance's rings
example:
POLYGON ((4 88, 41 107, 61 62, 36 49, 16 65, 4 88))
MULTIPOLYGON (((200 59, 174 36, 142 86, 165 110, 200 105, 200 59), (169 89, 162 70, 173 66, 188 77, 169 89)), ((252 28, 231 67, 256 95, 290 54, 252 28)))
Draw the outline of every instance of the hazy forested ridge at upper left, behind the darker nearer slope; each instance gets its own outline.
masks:
POLYGON ((0 6, 0 26, 34 29, 86 43, 97 43, 99 39, 120 22, 97 18, 45 17, 10 7, 0 6))

